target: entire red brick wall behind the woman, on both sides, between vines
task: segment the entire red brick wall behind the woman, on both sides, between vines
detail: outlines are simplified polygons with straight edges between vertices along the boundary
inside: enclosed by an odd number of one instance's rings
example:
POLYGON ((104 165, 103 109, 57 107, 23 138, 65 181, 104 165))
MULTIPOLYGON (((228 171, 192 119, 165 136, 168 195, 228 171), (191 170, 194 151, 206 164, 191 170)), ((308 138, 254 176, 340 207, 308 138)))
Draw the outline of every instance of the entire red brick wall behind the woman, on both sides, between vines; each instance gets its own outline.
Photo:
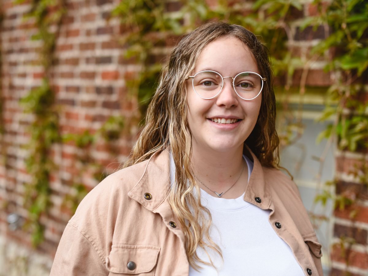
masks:
MULTIPOLYGON (((61 26, 57 39, 57 64, 52 68, 51 83, 56 91, 59 106, 61 134, 82 133, 84 130, 92 132, 98 130, 112 115, 123 115, 129 121, 138 114, 138 104, 134 97, 128 95, 126 80, 139 72, 139 65, 134 61, 123 58, 124 47, 118 43, 118 38, 124 30, 118 20, 107 21, 108 15, 118 0, 68 0, 67 14, 61 26)), ((208 1, 214 3, 215 1, 208 1)), ((315 32, 311 28, 301 31, 297 21, 305 16, 314 15, 316 8, 311 1, 304 3, 301 11, 293 14, 295 24, 291 24, 290 51, 307 61, 309 49, 325 37, 325 29, 318 28, 315 32)), ((42 67, 36 66, 40 47, 37 41, 31 41, 35 33, 32 22, 22 20, 22 15, 29 9, 28 4, 14 5, 13 0, 2 0, 4 11, 3 28, 1 30, 1 88, 3 95, 4 134, 0 134, 0 233, 11 240, 12 244, 31 248, 29 234, 21 229, 10 230, 7 216, 17 213, 27 217, 27 210, 23 208, 24 183, 31 177, 25 170, 24 160, 27 150, 24 145, 29 141, 28 126, 32 116, 23 113, 19 100, 29 90, 40 85, 43 77, 42 67)), ((180 8, 175 1, 167 5, 168 11, 175 12, 180 8)), ((171 47, 175 41, 168 41, 171 47)), ((158 50, 152 61, 163 61, 165 50, 158 50)), ((323 58, 310 64, 305 83, 307 87, 326 88, 332 83, 333 76, 323 72, 326 64, 323 58)), ((297 68, 292 83, 298 85, 302 77, 303 68, 297 68)), ((280 80, 279 80, 280 81, 280 80)), ((276 82, 277 83, 277 82, 276 82)), ((277 91, 276 91, 277 92, 277 91)), ((115 170, 119 162, 123 161, 133 144, 137 127, 132 127, 130 133, 125 134, 116 144, 118 152, 112 155, 104 141, 99 141, 91 149, 91 155, 96 161, 107 167, 107 173, 115 170)), ((53 146, 52 156, 59 169, 51 177, 52 202, 49 215, 42 217, 45 224, 45 241, 37 252, 53 258, 57 244, 64 227, 71 216, 63 208, 63 198, 71 191, 70 181, 77 174, 74 153, 80 151, 72 143, 53 146)), ((347 175, 347 168, 361 159, 368 160, 366 153, 346 155, 343 152, 337 156, 338 194, 358 189, 364 197, 358 202, 361 212, 357 221, 352 222, 348 211, 335 211, 336 219, 333 236, 336 240, 340 235, 355 237, 357 244, 351 249, 349 271, 355 275, 365 275, 368 271, 367 260, 367 231, 368 231, 368 198, 367 188, 361 189, 356 179, 347 175)), ((98 181, 91 174, 85 173, 84 184, 90 190, 98 181)), ((335 241, 336 241, 335 240, 335 241)), ((30 251, 31 252, 31 251, 30 251)), ((326 252, 324 252, 326 254, 326 252)), ((343 275, 346 269, 340 257, 340 248, 332 250, 332 275, 343 275)), ((48 267, 46 265, 45 271, 48 267)), ((45 273, 46 275, 47 273, 45 273)), ((0 270, 1 275, 1 270, 0 270)))

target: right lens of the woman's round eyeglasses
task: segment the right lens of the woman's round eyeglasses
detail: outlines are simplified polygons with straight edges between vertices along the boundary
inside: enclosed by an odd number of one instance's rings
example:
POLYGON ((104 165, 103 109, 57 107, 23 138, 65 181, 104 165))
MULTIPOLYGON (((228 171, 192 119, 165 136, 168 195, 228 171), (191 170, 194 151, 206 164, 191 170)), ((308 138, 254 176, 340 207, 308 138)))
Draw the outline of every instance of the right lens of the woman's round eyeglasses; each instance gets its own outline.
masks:
POLYGON ((261 92, 262 82, 259 75, 252 72, 244 72, 237 75, 234 79, 235 91, 241 98, 250 100, 261 92))

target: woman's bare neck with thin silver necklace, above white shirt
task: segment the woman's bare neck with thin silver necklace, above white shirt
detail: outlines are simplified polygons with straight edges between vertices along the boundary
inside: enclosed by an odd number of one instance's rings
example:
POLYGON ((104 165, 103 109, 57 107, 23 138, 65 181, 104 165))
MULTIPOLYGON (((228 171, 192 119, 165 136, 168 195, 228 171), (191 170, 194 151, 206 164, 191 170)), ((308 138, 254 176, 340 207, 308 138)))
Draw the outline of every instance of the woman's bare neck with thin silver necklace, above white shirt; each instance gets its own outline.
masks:
POLYGON ((248 180, 247 164, 243 159, 243 146, 227 152, 217 152, 193 144, 191 163, 201 188, 215 196, 212 191, 222 193, 222 198, 237 198, 243 194, 248 180), (237 180, 238 179, 238 180, 237 180), (206 187, 207 186, 207 187, 206 187), (210 191, 212 190, 212 191, 210 191))

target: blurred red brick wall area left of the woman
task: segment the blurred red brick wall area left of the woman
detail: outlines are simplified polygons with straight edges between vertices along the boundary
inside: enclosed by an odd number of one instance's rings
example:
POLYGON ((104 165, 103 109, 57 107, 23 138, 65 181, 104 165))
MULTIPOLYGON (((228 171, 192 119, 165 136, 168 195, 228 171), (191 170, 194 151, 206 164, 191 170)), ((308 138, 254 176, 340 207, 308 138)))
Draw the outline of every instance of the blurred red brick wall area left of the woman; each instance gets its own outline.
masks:
MULTIPOLYGON (((119 21, 106 21, 117 3, 109 0, 67 1, 67 14, 57 39, 57 64, 51 72, 61 134, 80 134, 84 130, 93 133, 110 116, 123 115, 129 121, 139 115, 137 101, 127 95, 124 78, 137 74, 139 66, 122 58, 124 49, 117 42, 119 21)), ((39 60, 36 50, 40 42, 32 41, 31 36, 36 29, 32 22, 22 18, 29 5, 15 5, 13 0, 3 0, 2 5, 5 16, 1 30, 1 81, 5 132, 0 141, 5 156, 1 156, 0 162, 0 231, 1 235, 29 246, 28 234, 20 229, 9 230, 7 215, 17 213, 27 217, 28 211, 22 207, 22 195, 24 184, 31 178, 25 169, 27 150, 24 146, 30 138, 28 127, 33 117, 23 112, 19 100, 41 84, 43 68, 35 65, 39 60)), ((127 133, 116 143, 119 151, 114 155, 101 139, 91 149, 92 157, 111 173, 130 152, 136 131, 137 127, 133 127, 132 134, 127 133)), ((52 158, 59 169, 51 177, 53 206, 49 216, 42 217, 42 223, 47 227, 45 241, 39 247, 39 251, 50 256, 53 256, 71 215, 62 204, 65 195, 71 192, 70 182, 76 174, 76 151, 73 143, 54 145, 52 149, 52 158)), ((98 181, 86 173, 84 183, 91 190, 98 181)))

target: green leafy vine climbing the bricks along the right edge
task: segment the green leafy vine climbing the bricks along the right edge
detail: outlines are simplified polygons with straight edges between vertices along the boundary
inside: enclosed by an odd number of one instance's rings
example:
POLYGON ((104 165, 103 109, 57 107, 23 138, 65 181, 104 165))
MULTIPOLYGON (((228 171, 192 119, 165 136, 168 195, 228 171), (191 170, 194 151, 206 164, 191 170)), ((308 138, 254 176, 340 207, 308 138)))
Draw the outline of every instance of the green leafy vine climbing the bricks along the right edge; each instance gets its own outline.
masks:
MULTIPOLYGON (((368 77, 368 3, 362 0, 335 0, 323 12, 322 1, 317 3, 320 5, 319 16, 310 18, 310 23, 328 25, 330 34, 313 50, 319 53, 333 51, 333 58, 329 60, 326 70, 335 75, 328 89, 325 111, 320 118, 325 121, 335 116, 335 120, 321 132, 318 140, 326 138, 329 144, 335 140, 342 157, 346 151, 363 154, 362 159, 357 160, 358 163, 348 171, 348 175, 360 183, 360 188, 335 195, 330 187, 335 186, 336 190, 339 180, 328 181, 315 202, 325 206, 332 200, 335 210, 348 208, 349 217, 355 224, 359 215, 357 202, 364 188, 368 187, 368 166, 364 158, 364 154, 368 153, 368 93, 365 81, 368 77)), ((346 267, 349 266, 351 247, 355 243, 353 237, 343 235, 333 244, 333 248, 340 248, 346 267)))

